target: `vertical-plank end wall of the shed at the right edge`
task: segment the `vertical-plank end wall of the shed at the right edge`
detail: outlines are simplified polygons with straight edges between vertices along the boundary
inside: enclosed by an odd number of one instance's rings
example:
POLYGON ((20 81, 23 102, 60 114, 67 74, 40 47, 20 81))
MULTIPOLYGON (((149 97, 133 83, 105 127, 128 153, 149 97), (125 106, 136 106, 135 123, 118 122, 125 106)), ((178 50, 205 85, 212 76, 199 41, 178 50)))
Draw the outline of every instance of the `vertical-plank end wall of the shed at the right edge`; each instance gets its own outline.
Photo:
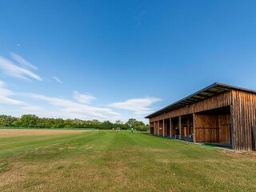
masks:
POLYGON ((253 150, 252 126, 256 125, 256 94, 232 90, 234 149, 253 150))

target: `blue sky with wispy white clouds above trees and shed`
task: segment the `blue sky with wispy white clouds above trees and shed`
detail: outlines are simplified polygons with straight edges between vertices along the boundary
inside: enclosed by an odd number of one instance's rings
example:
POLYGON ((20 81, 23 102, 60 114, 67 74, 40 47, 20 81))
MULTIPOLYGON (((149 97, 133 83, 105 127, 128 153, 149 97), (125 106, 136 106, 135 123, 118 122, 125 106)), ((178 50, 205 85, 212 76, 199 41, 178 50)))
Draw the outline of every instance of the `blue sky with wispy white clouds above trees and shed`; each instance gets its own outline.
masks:
POLYGON ((0 114, 143 120, 214 82, 256 90, 256 1, 0 0, 0 114))

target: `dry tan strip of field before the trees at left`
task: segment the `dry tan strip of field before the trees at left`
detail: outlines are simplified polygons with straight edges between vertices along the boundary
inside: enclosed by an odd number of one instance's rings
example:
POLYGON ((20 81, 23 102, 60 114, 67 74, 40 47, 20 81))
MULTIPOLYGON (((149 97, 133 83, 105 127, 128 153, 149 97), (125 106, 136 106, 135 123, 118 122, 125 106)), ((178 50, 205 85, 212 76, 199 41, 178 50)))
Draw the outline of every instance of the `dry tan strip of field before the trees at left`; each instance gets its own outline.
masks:
POLYGON ((19 130, 19 129, 1 129, 0 138, 10 138, 18 136, 40 136, 54 134, 79 134, 91 130, 19 130))

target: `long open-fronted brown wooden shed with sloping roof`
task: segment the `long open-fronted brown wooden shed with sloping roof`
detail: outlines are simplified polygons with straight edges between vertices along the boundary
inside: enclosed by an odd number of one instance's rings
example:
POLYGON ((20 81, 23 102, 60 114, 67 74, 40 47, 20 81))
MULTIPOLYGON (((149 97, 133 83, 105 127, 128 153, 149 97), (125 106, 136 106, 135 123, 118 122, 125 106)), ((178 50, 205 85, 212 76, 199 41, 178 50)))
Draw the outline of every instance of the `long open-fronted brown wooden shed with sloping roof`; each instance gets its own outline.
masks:
POLYGON ((216 82, 146 118, 150 134, 255 150, 255 90, 216 82))

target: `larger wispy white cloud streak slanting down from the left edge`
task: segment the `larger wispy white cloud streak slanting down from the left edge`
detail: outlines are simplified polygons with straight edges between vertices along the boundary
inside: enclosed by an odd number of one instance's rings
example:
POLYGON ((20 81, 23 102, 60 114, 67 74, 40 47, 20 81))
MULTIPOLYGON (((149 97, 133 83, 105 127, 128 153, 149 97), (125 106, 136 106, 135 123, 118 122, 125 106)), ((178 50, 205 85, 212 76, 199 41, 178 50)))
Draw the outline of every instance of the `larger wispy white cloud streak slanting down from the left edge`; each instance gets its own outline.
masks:
POLYGON ((34 74, 34 72, 22 66, 17 66, 14 64, 14 62, 11 62, 10 60, 3 58, 2 56, 0 56, 0 70, 2 70, 4 74, 12 76, 14 78, 21 78, 24 80, 30 80, 30 78, 33 78, 38 81, 42 81, 42 78, 39 77, 38 74, 34 74))

